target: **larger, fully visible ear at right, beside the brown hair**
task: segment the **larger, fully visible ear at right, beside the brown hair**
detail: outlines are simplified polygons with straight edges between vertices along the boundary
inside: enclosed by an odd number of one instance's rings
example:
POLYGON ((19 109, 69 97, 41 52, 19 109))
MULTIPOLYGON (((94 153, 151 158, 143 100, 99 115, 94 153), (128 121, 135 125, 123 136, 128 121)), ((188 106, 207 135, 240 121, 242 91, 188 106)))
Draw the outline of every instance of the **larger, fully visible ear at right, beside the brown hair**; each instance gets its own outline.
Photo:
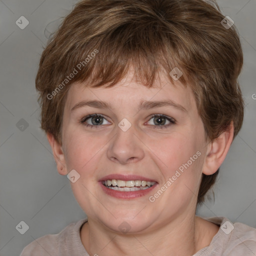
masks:
POLYGON ((208 144, 207 154, 204 159, 202 173, 211 175, 217 171, 224 161, 228 149, 233 140, 234 126, 233 121, 229 124, 226 131, 223 131, 217 138, 208 144))

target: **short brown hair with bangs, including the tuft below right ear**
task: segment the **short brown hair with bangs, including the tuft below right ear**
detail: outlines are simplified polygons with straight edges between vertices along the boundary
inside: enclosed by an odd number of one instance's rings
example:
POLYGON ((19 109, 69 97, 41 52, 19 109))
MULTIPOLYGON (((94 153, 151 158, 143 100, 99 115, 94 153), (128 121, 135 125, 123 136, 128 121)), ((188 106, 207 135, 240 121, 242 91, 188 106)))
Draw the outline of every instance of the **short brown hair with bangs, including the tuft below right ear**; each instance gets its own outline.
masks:
MULTIPOLYGON (((214 2, 78 2, 41 54, 35 80, 41 128, 62 143, 63 108, 73 82, 110 87, 132 66, 136 81, 151 87, 159 73, 175 82, 169 72, 178 67, 183 73, 179 80, 192 88, 207 139, 216 138, 231 121, 235 136, 243 120, 237 81, 242 49, 235 26, 224 27, 221 21, 225 17, 210 3, 214 2), (92 52, 97 52, 96 56, 92 52), (77 73, 69 82, 66 77, 75 73, 74 69, 77 73)), ((203 202, 217 173, 202 174, 198 203, 203 202)))

